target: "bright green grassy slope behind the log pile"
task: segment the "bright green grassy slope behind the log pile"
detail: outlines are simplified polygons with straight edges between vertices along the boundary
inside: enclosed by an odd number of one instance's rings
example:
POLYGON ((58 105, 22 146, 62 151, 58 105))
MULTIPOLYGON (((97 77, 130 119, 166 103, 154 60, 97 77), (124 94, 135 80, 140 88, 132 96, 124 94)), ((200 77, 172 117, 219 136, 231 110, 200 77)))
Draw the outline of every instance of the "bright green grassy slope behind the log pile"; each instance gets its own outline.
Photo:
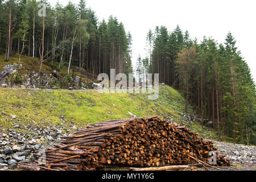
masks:
MULTIPOLYGON (((100 94, 96 90, 0 88, 0 111, 7 114, 0 115, 0 130, 13 127, 12 123, 42 127, 60 123, 70 126, 72 123, 84 127, 86 123, 129 118, 128 111, 137 117, 163 114, 173 117, 176 123, 184 123, 179 116, 184 113, 184 107, 184 98, 170 86, 160 86, 158 100, 148 100, 147 94, 100 94), (9 114, 15 114, 16 118, 11 119, 9 114), (61 117, 66 122, 61 122, 61 117)), ((198 124, 190 127, 201 130, 198 124)))

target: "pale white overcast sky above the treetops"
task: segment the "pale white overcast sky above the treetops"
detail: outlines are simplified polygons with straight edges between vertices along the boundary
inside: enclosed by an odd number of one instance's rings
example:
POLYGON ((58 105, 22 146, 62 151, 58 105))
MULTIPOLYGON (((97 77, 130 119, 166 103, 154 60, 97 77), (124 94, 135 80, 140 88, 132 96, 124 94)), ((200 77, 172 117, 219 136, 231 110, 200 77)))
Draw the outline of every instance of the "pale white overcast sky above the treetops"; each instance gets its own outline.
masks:
MULTIPOLYGON (((56 1, 49 0, 54 6, 56 1)), ((66 5, 69 0, 61 0, 66 5)), ((79 0, 71 0, 78 3, 79 0)), ((237 47, 247 61, 256 81, 256 10, 255 0, 86 0, 86 6, 96 11, 99 20, 117 16, 126 31, 133 36, 133 64, 139 54, 147 56, 146 34, 149 28, 164 25, 169 31, 179 24, 199 41, 203 36, 212 36, 224 43, 225 36, 232 32, 237 47)))

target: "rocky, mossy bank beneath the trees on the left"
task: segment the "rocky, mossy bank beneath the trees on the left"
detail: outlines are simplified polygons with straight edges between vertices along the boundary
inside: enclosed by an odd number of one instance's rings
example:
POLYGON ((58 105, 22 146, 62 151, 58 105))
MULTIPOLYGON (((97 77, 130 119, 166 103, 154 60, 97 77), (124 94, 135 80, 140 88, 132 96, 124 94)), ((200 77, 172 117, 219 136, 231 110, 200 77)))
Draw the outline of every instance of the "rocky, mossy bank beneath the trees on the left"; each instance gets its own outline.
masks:
POLYGON ((0 55, 0 85, 9 87, 42 88, 42 89, 92 89, 93 75, 85 69, 72 66, 69 75, 67 65, 54 64, 50 60, 44 61, 42 73, 38 74, 40 59, 38 57, 22 56, 19 63, 18 56, 11 56, 4 61, 0 55), (7 73, 7 75, 4 75, 7 73))

